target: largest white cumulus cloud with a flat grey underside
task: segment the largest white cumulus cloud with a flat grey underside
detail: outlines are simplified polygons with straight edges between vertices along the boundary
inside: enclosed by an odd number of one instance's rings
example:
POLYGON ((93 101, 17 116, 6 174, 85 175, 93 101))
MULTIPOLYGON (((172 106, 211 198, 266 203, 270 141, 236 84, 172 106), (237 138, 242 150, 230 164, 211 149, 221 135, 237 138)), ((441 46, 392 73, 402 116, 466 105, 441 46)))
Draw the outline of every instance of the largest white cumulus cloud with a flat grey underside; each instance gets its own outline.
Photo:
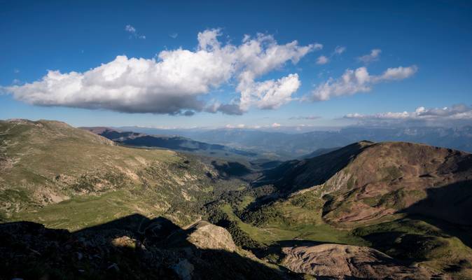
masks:
MULTIPOLYGON (((136 33, 132 26, 126 29, 136 33)), ((89 71, 48 71, 40 80, 4 90, 40 106, 187 116, 195 111, 241 114, 251 106, 276 109, 291 101, 300 87, 296 73, 277 80, 258 78, 286 62, 296 64, 314 45, 279 44, 267 34, 245 36, 240 45, 232 45, 221 43, 220 35, 219 29, 200 32, 196 50, 164 50, 155 59, 120 55, 89 71), (233 79, 240 98, 230 104, 202 101, 204 94, 233 79)))

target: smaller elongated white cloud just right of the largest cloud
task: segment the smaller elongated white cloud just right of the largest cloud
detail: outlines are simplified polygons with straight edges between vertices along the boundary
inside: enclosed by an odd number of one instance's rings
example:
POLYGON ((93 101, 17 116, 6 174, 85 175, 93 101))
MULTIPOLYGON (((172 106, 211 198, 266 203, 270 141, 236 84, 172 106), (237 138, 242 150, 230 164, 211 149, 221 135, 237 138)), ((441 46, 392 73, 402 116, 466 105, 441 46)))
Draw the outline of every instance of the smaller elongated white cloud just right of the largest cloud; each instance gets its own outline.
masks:
POLYGON ((384 73, 375 76, 370 75, 366 67, 359 67, 356 70, 347 69, 340 78, 329 78, 325 83, 315 87, 310 99, 312 101, 325 101, 331 99, 331 97, 368 92, 376 83, 409 78, 417 70, 418 68, 415 65, 408 67, 399 66, 389 68, 384 73))

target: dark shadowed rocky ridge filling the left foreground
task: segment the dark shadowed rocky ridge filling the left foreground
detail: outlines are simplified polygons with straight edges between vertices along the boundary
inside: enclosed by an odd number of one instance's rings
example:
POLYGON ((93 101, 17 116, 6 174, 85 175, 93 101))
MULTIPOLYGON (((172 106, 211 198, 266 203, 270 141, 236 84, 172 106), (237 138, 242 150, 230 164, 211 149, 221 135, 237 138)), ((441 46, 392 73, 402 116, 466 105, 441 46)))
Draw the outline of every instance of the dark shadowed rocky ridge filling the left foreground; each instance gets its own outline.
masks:
POLYGON ((139 214, 77 232, 1 224, 1 279, 292 278, 235 251, 205 248, 202 237, 190 243, 197 228, 139 214))

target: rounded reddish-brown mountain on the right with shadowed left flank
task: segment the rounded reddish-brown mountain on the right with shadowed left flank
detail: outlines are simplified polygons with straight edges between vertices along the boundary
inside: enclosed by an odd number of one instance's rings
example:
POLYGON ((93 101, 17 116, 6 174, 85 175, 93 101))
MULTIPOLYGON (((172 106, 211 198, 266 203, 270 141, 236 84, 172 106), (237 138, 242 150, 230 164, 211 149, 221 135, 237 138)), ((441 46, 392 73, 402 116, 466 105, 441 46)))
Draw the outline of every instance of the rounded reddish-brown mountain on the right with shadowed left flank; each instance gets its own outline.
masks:
POLYGON ((331 153, 284 162, 256 186, 282 195, 319 189, 324 221, 349 228, 396 213, 472 225, 472 155, 405 142, 361 141, 331 153))

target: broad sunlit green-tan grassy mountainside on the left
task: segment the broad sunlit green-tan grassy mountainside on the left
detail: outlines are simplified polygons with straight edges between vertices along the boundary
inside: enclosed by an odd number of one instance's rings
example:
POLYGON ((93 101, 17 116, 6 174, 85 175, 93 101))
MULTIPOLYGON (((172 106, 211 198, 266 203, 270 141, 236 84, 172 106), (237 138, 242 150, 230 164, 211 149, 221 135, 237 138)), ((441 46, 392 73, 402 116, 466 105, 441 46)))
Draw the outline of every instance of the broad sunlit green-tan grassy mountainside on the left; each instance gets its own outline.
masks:
MULTIPOLYGON (((132 213, 194 221, 226 180, 197 158, 116 146, 65 123, 0 122, 0 213, 77 230, 132 213)), ((223 188, 222 187, 222 188, 223 188)))

